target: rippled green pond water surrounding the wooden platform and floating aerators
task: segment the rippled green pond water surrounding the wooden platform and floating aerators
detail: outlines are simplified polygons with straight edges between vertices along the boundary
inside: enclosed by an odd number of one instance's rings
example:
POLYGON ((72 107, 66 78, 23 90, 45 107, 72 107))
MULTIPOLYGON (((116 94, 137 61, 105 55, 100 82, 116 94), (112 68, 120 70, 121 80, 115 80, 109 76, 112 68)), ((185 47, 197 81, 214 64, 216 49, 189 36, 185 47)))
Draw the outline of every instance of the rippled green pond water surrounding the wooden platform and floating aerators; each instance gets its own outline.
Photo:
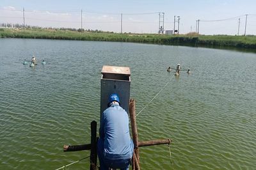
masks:
MULTIPOLYGON (((0 39, 0 59, 0 169, 57 169, 90 155, 62 147, 90 143, 90 122, 99 127, 103 65, 131 68, 136 112, 147 105, 137 116, 139 140, 173 140, 172 166, 168 146, 149 146, 140 148, 141 169, 256 167, 255 53, 0 39), (22 65, 33 55, 35 68, 22 65), (177 63, 191 73, 166 72, 177 63)), ((69 169, 89 165, 85 159, 69 169)))

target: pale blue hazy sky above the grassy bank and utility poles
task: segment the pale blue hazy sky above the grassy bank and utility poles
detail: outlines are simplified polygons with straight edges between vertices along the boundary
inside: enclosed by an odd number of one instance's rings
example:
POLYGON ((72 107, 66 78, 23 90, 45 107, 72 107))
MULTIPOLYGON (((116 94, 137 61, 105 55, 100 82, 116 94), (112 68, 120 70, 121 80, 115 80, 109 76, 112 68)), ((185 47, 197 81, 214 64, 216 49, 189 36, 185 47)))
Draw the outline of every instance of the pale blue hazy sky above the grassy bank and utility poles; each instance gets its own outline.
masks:
POLYGON ((157 33, 159 22, 157 12, 164 12, 165 30, 173 29, 173 16, 179 15, 181 34, 189 33, 191 30, 195 31, 196 20, 200 19, 202 20, 199 27, 201 34, 237 35, 240 18, 239 35, 243 35, 245 14, 249 14, 246 34, 256 35, 256 1, 253 0, 1 0, 0 22, 22 24, 21 10, 23 7, 25 8, 25 22, 29 25, 79 28, 81 27, 81 9, 83 9, 84 29, 117 33, 120 32, 120 13, 124 13, 123 32, 157 33), (209 20, 221 21, 210 22, 209 20))

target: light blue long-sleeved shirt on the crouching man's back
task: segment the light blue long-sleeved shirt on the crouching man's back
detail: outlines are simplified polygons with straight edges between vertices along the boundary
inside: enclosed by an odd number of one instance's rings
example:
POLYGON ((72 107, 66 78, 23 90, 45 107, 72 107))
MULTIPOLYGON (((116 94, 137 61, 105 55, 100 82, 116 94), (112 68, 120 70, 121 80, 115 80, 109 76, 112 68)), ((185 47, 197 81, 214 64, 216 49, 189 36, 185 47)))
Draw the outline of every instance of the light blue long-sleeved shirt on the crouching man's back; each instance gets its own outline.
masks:
POLYGON ((100 137, 104 138, 107 158, 131 158, 134 144, 129 134, 129 117, 118 104, 111 105, 102 113, 100 137))

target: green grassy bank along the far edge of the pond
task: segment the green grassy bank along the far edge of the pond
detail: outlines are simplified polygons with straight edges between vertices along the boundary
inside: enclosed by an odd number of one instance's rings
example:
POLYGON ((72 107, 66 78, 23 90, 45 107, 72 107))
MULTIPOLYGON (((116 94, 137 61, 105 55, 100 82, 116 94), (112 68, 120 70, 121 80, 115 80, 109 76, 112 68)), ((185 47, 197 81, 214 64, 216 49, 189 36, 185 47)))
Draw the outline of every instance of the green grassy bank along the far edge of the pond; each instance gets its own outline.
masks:
POLYGON ((137 42, 163 45, 190 45, 211 47, 237 47, 241 49, 256 49, 256 36, 167 36, 150 34, 120 34, 120 33, 80 33, 52 29, 4 29, 0 28, 0 38, 41 38, 56 40, 87 40, 106 42, 137 42))

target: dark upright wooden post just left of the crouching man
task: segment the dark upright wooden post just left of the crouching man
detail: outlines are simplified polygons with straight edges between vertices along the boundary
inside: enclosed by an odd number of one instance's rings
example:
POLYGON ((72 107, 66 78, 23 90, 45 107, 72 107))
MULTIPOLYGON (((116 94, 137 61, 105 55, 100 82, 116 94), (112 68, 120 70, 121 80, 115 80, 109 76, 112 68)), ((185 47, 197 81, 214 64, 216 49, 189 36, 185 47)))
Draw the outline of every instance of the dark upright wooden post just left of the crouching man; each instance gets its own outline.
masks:
POLYGON ((90 170, 96 170, 97 167, 97 122, 91 122, 91 154, 90 170))

